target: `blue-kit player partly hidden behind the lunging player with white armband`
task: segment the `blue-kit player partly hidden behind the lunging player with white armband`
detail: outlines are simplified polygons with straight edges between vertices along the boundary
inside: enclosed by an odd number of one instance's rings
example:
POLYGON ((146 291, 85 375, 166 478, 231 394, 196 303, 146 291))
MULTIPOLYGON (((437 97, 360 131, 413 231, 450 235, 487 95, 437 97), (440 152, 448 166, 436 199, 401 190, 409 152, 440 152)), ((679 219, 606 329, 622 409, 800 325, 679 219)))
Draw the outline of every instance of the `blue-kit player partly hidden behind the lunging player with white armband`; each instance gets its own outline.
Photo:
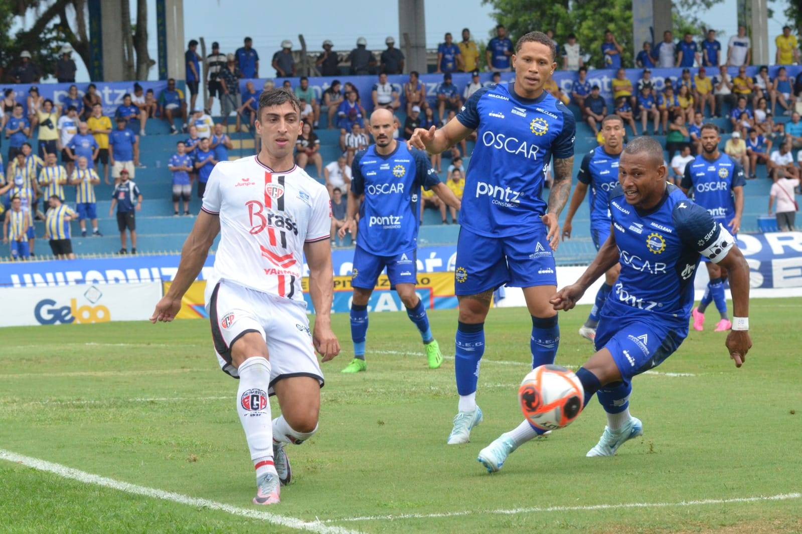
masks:
MULTIPOLYGON (((565 222, 562 224, 562 239, 570 239, 573 215, 577 213, 589 187, 590 236, 597 251, 610 235, 610 208, 607 199, 610 191, 618 185, 618 159, 624 150, 624 135, 626 135, 623 119, 616 114, 607 115, 602 120, 602 135, 604 144, 589 151, 582 159, 577 175, 577 188, 573 190, 568 215, 565 215, 565 222)), ((621 266, 616 264, 604 275, 605 282, 596 293, 596 302, 590 310, 588 319, 579 328, 579 335, 585 339, 593 341, 596 337, 599 311, 602 311, 610 290, 618 279, 618 271, 621 271, 621 266)))

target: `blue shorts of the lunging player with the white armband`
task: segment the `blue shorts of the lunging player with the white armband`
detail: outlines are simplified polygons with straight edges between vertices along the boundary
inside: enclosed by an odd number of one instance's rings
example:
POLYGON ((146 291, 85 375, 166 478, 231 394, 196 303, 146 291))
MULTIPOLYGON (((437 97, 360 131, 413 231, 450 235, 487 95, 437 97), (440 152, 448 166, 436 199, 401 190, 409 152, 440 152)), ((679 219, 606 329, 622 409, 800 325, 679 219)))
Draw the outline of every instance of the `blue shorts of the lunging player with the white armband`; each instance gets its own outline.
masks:
POLYGON ((634 375, 657 367, 676 351, 685 339, 659 319, 606 315, 602 308, 596 328, 596 350, 606 348, 613 355, 621 378, 629 383, 634 375))

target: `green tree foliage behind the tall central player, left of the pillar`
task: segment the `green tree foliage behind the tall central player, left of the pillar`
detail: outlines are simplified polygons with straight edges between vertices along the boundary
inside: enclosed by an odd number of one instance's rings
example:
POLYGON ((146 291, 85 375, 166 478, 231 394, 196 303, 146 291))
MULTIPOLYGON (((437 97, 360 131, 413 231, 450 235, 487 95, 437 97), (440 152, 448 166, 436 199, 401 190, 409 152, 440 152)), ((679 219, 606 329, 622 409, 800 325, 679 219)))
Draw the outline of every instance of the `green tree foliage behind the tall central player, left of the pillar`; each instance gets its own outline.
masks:
POLYGON ((554 38, 565 43, 575 34, 582 50, 591 54, 590 63, 604 66, 601 46, 611 30, 624 47, 622 64, 632 65, 632 0, 483 0, 493 7, 492 17, 504 24, 510 38, 533 31, 553 30, 554 38))

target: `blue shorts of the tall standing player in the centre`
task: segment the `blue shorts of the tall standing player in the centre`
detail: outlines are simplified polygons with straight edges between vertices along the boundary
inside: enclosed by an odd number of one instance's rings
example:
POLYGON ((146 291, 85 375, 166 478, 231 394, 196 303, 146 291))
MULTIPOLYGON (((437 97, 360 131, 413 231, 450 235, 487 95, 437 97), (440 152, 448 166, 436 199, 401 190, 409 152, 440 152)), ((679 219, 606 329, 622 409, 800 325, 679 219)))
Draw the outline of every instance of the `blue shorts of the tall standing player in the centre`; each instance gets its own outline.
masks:
POLYGON ((456 244, 456 295, 476 295, 496 287, 556 286, 557 267, 546 228, 533 234, 485 237, 460 228, 456 244))

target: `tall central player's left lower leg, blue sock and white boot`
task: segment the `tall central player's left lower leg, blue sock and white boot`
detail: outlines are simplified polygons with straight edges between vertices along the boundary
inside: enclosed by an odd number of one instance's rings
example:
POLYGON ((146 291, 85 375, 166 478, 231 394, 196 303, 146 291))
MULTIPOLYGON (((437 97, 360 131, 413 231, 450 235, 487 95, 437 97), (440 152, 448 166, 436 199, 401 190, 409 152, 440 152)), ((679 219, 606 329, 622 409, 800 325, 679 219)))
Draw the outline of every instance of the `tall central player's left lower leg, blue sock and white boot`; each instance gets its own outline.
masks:
POLYGON ((484 323, 460 321, 456 328, 455 348, 454 374, 460 404, 448 436, 449 445, 468 443, 471 429, 482 422, 482 411, 476 405, 476 382, 479 379, 479 362, 484 354, 484 323))

